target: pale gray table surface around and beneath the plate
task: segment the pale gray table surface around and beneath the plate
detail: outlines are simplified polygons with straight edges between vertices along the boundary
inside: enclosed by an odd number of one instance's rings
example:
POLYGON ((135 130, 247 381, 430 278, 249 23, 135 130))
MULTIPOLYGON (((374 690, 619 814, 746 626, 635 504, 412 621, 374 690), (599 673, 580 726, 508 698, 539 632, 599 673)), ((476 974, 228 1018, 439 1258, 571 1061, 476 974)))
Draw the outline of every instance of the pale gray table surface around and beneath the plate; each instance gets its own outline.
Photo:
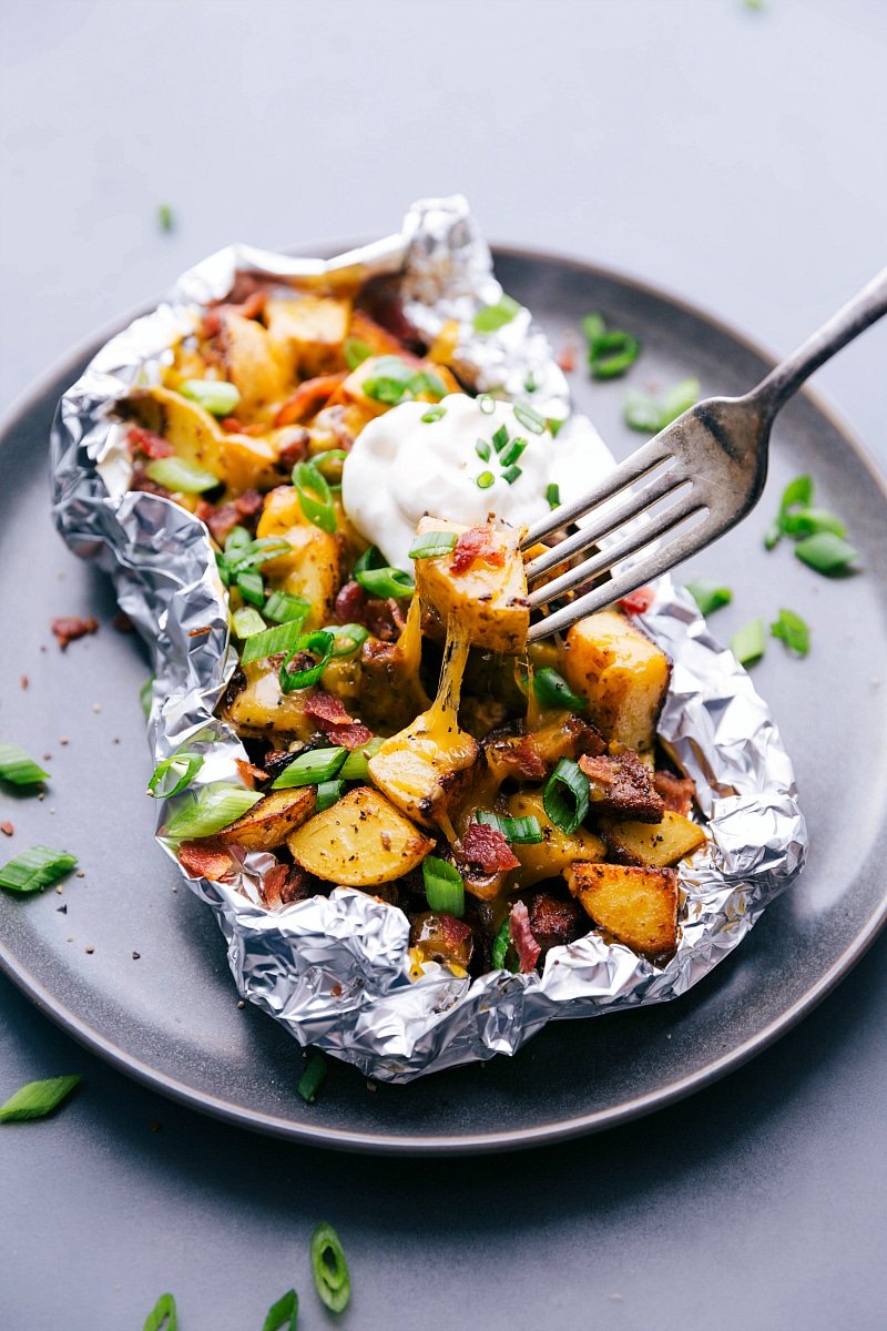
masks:
MULTIPOLYGON (((779 351, 884 262, 879 0, 13 0, 0 61, 4 405, 233 238, 384 233, 430 193, 779 351)), ((882 467, 886 354, 875 329, 818 379, 882 467)), ((882 936, 799 1028, 676 1107, 451 1163, 205 1119, 3 981, 0 1098, 72 1067, 88 1090, 0 1130, 1 1324, 140 1328, 172 1290, 181 1331, 249 1331, 293 1283, 301 1324, 328 1324, 306 1247, 326 1215, 352 1328, 880 1327, 886 962, 882 936)))

